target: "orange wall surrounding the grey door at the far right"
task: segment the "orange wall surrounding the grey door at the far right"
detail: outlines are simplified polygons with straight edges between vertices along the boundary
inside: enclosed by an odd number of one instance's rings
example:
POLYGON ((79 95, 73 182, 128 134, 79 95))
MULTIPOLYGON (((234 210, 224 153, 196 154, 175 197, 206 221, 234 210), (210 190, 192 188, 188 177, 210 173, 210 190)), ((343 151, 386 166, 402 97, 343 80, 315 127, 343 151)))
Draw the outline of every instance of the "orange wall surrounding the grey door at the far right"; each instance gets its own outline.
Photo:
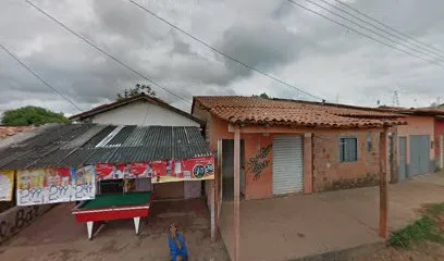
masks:
MULTIPOLYGON (((407 125, 397 127, 397 136, 407 138, 407 151, 410 151, 410 135, 430 135, 434 141, 434 117, 433 116, 407 116, 404 119, 407 125)), ((430 148, 430 160, 434 160, 434 149, 430 148)), ((407 163, 410 163, 410 153, 407 152, 407 163)))

